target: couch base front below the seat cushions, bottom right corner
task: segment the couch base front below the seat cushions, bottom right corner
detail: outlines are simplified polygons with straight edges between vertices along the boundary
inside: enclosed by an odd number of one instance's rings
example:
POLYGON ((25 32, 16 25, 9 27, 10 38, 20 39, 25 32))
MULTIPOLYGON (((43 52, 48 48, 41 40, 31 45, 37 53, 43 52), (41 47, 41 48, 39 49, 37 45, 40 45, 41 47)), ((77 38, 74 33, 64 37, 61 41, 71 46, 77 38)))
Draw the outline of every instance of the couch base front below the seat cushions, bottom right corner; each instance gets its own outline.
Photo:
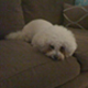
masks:
POLYGON ((64 84, 63 86, 58 86, 56 88, 88 88, 88 72, 81 73, 73 80, 64 84))

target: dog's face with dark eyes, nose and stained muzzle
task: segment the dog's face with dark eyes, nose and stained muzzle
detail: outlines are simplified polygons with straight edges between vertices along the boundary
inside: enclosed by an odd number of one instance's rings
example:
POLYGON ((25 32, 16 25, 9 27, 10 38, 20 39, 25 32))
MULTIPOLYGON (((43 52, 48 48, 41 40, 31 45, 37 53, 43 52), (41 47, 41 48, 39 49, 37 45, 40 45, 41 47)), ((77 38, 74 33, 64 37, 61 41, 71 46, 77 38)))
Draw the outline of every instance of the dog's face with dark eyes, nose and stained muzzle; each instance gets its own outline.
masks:
POLYGON ((48 45, 47 48, 42 51, 46 56, 53 58, 53 59, 59 59, 63 61, 65 56, 65 48, 61 46, 57 48, 54 45, 48 45))

